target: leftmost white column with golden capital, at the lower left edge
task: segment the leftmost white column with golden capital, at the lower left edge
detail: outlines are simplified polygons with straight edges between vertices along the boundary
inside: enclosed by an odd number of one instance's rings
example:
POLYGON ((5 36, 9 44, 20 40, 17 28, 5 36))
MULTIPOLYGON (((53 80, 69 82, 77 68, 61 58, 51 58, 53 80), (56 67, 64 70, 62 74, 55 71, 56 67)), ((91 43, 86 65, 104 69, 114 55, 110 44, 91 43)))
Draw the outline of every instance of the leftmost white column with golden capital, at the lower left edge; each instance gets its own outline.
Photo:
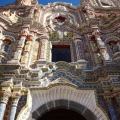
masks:
POLYGON ((11 94, 7 91, 0 92, 0 120, 3 120, 5 109, 6 109, 6 104, 10 96, 11 94))

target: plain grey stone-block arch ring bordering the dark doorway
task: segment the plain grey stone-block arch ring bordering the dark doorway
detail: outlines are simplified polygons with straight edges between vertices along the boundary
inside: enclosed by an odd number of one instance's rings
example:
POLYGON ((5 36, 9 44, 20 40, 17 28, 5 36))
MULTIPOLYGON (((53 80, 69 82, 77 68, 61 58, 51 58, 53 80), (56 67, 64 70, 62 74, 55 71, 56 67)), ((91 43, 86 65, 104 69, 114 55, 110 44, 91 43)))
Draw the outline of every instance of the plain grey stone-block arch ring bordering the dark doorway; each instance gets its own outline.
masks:
POLYGON ((87 120, 97 120, 96 116, 85 106, 76 103, 74 101, 69 100, 55 100, 50 101, 48 103, 43 104, 40 106, 36 111, 32 113, 32 117, 37 120, 40 116, 45 114, 46 112, 50 111, 51 109, 57 109, 57 108, 69 108, 71 110, 74 110, 84 116, 87 120))

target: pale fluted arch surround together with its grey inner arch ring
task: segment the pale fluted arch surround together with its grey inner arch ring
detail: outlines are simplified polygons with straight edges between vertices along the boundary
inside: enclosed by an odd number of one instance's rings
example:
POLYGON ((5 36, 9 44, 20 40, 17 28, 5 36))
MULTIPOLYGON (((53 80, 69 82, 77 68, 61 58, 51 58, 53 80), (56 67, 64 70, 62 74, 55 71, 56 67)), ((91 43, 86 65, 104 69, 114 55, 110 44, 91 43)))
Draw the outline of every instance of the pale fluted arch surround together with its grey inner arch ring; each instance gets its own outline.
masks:
POLYGON ((66 107, 82 114, 88 120, 108 120, 107 115, 98 107, 94 90, 81 90, 75 86, 48 86, 31 91, 33 98, 29 120, 37 120, 50 109, 66 107), (79 107, 78 107, 79 106, 79 107))

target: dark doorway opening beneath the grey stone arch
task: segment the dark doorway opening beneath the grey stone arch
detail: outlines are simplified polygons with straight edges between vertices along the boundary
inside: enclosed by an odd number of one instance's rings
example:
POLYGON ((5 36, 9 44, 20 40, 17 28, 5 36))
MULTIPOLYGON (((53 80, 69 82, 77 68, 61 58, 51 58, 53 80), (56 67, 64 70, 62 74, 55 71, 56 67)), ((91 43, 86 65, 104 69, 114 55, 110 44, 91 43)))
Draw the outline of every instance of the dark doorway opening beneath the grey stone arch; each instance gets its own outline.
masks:
POLYGON ((86 120, 81 114, 70 109, 54 109, 37 120, 86 120))

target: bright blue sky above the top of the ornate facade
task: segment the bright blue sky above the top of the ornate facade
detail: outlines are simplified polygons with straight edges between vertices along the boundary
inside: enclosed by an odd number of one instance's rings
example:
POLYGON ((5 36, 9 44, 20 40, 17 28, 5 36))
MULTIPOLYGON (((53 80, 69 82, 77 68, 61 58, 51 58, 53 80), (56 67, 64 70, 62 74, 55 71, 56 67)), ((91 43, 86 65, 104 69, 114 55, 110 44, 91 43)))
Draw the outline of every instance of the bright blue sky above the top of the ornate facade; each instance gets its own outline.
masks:
MULTIPOLYGON (((52 2, 67 2, 72 3, 73 5, 77 6, 80 3, 80 0, 38 0, 39 4, 47 5, 48 3, 52 2)), ((0 0, 0 6, 4 6, 9 3, 14 3, 15 0, 0 0)))

